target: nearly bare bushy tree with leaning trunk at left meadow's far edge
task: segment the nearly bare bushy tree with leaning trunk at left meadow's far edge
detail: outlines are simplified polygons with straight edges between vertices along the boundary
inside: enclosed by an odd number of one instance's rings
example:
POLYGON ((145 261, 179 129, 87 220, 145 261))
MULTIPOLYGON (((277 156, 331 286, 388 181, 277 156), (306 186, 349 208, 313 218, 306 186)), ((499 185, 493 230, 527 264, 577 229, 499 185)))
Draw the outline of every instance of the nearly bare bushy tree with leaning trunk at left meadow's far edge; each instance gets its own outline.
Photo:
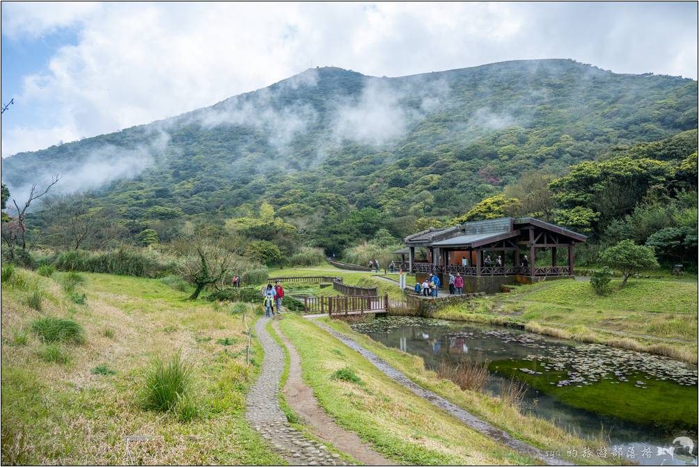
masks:
POLYGON ((190 300, 196 300, 201 291, 226 277, 233 266, 233 255, 209 240, 196 239, 189 254, 180 257, 178 273, 194 285, 190 300))

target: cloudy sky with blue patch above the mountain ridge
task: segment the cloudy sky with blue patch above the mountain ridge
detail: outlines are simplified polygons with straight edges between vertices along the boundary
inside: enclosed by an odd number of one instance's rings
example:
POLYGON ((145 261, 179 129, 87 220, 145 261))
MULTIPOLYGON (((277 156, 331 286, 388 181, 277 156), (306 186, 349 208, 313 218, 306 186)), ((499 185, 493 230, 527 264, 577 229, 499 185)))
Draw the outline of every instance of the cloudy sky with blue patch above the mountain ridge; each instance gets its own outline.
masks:
POLYGON ((402 76, 571 58, 697 76, 697 3, 2 3, 2 156, 209 106, 313 66, 402 76))

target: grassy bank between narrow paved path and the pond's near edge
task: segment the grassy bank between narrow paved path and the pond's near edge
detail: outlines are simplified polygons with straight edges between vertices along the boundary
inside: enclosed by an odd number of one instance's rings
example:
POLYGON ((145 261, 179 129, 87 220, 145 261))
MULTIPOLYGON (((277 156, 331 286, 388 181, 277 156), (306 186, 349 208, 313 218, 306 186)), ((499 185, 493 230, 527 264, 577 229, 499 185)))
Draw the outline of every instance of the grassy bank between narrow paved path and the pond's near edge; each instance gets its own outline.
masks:
MULTIPOLYGON (((368 336, 352 331, 345 322, 325 318, 323 320, 338 331, 351 336, 363 347, 398 368, 417 384, 507 431, 514 438, 531 443, 545 451, 558 451, 563 457, 565 457, 566 450, 570 450, 572 447, 580 451, 584 447, 599 447, 603 444, 601 441, 582 440, 572 436, 546 420, 522 415, 516 407, 500 400, 500 398, 462 390, 450 380, 440 379, 435 372, 426 370, 421 358, 377 343, 368 336)), ((576 464, 583 461, 579 457, 570 460, 576 464)), ((584 461, 591 464, 608 464, 610 459, 591 457, 584 459, 584 461)))

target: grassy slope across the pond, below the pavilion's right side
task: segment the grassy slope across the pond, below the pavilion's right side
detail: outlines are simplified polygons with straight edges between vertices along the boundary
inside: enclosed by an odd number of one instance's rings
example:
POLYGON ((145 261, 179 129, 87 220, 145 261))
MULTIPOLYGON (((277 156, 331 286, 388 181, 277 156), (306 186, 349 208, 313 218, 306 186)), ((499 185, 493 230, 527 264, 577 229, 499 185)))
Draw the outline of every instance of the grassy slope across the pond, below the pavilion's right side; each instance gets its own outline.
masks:
POLYGON ((642 279, 612 286, 611 295, 598 296, 589 282, 540 282, 444 308, 435 317, 517 324, 549 336, 697 362, 696 283, 642 279))

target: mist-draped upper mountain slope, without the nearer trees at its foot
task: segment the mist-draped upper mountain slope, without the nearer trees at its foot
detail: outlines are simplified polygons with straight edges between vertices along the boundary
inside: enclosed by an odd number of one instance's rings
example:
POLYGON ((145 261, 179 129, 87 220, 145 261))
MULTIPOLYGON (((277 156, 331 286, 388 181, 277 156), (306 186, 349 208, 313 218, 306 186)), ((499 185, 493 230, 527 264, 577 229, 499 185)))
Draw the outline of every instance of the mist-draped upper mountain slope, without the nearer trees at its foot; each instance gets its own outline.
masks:
MULTIPOLYGON (((176 99, 176 96, 173 96, 176 99)), ((239 215, 261 199, 459 215, 523 173, 697 128, 697 82, 567 59, 377 78, 309 69, 207 108, 3 160, 19 199, 52 175, 146 223, 239 215)))

